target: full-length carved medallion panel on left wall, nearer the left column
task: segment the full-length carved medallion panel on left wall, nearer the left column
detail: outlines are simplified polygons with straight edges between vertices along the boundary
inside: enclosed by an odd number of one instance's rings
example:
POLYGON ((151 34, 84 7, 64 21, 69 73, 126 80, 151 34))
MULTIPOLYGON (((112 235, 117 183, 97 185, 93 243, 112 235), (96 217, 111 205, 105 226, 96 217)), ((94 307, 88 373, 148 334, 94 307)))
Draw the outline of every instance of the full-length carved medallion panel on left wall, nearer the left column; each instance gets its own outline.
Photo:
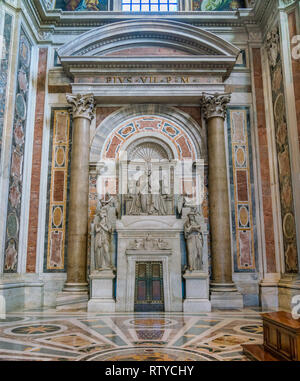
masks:
POLYGON ((28 87, 31 63, 31 43, 21 28, 14 124, 11 144, 9 195, 6 219, 4 272, 17 271, 19 227, 23 189, 25 132, 28 106, 28 87))

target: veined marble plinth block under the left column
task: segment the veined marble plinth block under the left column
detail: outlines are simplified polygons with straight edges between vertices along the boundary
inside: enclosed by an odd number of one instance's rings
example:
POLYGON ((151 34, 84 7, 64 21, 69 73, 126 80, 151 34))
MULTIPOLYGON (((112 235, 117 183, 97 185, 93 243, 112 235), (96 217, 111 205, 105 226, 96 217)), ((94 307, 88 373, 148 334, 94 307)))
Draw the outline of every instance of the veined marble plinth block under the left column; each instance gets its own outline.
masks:
POLYGON ((88 292, 62 291, 56 297, 57 311, 86 311, 88 292))

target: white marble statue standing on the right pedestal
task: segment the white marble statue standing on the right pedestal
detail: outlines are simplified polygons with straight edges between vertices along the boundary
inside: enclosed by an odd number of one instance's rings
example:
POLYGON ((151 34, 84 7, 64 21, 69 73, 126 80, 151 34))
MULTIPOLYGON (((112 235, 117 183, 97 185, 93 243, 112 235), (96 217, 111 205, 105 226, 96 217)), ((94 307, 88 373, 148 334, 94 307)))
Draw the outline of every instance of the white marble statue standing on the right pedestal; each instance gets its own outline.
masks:
POLYGON ((188 270, 202 270, 203 234, 200 223, 196 219, 197 212, 190 212, 184 224, 184 236, 187 246, 188 270))

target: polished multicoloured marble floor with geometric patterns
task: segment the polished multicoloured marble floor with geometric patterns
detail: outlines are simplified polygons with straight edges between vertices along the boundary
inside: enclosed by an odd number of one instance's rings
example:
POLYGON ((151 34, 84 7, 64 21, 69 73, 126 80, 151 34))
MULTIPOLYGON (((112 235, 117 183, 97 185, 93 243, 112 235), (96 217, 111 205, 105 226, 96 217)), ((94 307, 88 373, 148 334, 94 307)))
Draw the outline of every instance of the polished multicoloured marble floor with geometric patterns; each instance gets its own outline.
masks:
POLYGON ((0 360, 247 361, 241 344, 262 343, 254 309, 202 314, 55 311, 0 319, 0 360))

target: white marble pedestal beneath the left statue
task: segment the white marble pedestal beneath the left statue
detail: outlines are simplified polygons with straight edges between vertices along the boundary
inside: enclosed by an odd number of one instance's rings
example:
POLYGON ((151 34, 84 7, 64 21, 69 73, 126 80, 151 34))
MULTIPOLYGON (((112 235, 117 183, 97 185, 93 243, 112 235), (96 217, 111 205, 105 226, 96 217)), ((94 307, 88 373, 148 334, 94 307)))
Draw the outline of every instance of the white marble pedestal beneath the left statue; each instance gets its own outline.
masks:
POLYGON ((88 312, 115 312, 116 302, 113 298, 115 277, 111 270, 94 271, 90 275, 88 312))

